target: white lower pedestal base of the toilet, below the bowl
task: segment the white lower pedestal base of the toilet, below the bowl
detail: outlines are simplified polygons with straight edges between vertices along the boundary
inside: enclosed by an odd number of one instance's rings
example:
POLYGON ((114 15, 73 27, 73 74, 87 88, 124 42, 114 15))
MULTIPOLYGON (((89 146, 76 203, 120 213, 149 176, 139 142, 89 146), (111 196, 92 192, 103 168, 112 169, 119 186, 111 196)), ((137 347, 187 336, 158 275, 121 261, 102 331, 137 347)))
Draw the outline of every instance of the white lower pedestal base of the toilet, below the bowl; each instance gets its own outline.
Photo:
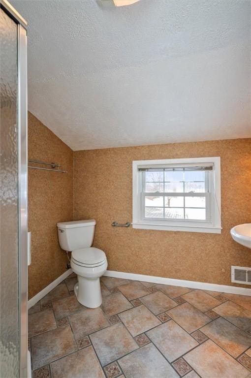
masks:
POLYGON ((99 277, 96 279, 87 279, 78 276, 78 282, 74 285, 74 293, 78 302, 83 306, 95 309, 102 304, 99 277))

